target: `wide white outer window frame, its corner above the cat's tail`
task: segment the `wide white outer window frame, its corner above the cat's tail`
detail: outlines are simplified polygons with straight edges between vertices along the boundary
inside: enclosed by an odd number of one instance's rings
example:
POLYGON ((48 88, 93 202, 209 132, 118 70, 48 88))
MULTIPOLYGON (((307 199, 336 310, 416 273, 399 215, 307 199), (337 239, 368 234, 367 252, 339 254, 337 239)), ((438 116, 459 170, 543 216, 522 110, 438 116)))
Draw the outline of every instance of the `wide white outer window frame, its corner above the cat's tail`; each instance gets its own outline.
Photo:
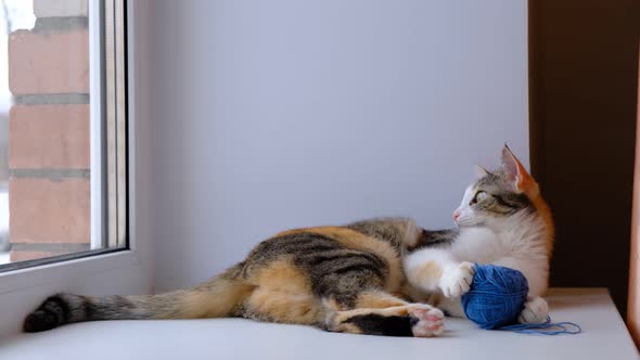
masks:
POLYGON ((149 68, 153 8, 153 1, 128 0, 126 4, 129 249, 0 273, 0 337, 21 332, 24 317, 52 293, 149 294, 153 290, 149 68))

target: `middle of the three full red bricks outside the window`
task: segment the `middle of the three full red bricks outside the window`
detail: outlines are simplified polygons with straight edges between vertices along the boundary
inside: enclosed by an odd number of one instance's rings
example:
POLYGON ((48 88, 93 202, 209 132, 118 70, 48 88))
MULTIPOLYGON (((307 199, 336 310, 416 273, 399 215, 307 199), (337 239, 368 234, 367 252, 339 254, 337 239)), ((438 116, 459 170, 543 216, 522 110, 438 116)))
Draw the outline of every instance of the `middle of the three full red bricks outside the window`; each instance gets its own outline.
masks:
POLYGON ((9 114, 10 168, 89 168, 89 105, 16 105, 9 114))

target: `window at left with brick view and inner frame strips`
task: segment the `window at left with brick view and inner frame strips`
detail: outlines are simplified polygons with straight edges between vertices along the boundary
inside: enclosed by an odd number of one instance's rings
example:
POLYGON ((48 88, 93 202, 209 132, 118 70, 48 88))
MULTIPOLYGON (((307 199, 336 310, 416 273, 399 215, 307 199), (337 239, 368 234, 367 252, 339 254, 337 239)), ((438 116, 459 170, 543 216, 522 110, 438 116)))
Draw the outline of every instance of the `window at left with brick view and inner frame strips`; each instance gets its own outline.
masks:
POLYGON ((127 248, 125 1, 0 3, 0 271, 127 248))

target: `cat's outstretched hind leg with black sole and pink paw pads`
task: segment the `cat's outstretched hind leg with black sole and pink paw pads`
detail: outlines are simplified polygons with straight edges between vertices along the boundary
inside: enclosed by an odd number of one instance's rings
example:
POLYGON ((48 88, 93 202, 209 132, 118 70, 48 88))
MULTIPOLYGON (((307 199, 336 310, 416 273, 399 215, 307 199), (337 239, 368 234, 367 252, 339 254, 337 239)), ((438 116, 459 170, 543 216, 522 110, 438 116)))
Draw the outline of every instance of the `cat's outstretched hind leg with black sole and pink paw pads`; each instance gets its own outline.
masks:
POLYGON ((444 329, 444 314, 426 304, 410 304, 382 291, 364 291, 356 308, 344 310, 334 298, 324 300, 324 329, 351 334, 430 337, 444 329))

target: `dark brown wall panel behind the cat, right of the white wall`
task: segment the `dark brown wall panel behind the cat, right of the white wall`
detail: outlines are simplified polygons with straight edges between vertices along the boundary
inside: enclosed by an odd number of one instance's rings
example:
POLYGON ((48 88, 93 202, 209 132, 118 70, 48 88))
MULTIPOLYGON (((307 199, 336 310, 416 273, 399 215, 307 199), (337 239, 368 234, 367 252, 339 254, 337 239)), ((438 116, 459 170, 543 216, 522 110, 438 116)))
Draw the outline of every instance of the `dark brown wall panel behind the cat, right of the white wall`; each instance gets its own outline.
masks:
POLYGON ((558 230, 551 284, 609 287, 620 311, 639 26, 638 0, 529 1, 532 167, 558 230))

